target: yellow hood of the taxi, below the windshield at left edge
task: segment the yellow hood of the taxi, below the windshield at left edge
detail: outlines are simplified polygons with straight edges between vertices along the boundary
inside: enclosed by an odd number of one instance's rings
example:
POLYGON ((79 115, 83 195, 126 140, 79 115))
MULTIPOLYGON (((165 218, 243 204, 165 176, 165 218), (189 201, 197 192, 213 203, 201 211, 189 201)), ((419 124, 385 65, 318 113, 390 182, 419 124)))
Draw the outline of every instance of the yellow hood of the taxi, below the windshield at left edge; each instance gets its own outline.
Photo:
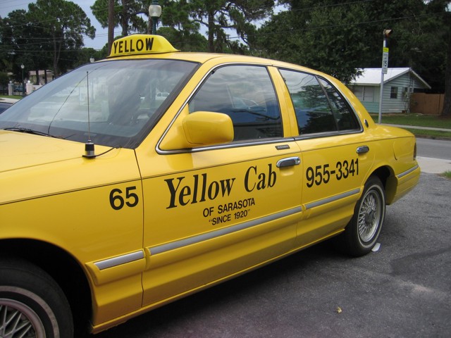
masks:
POLYGON ((0 130, 0 173, 80 158, 80 142, 0 130))

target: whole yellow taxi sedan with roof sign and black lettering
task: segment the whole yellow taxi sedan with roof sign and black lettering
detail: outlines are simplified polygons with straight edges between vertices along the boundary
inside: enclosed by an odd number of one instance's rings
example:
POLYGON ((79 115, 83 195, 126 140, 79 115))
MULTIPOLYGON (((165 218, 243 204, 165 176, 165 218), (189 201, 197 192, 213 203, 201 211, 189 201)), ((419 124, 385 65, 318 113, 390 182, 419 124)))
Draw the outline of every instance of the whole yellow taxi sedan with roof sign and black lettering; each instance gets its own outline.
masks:
POLYGON ((118 39, 0 115, 1 334, 97 333, 331 237, 362 256, 419 175, 333 77, 118 39))

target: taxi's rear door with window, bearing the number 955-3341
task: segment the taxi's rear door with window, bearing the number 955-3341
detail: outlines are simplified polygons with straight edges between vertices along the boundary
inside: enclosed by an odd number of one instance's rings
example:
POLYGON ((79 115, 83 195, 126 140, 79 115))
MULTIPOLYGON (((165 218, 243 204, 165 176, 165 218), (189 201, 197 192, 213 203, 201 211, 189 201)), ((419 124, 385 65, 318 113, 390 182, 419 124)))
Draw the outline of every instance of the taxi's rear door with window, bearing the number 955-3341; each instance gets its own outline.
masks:
POLYGON ((373 163, 369 140, 350 104, 326 78, 280 70, 297 119, 302 151, 302 205, 299 245, 340 231, 354 212, 373 163))

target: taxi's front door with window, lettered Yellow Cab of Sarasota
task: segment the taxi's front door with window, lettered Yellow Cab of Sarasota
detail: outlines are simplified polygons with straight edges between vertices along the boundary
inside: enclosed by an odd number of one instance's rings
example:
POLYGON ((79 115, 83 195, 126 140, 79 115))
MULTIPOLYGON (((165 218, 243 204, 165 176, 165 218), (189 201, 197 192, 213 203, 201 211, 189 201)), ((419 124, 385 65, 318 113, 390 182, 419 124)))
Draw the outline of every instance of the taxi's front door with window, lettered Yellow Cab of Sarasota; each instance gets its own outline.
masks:
POLYGON ((156 150, 137 149, 149 254, 144 306, 219 282, 295 246, 302 211, 299 148, 284 137, 288 118, 268 69, 226 65, 206 77, 156 150), (180 121, 198 111, 227 114, 233 142, 168 150, 180 121))

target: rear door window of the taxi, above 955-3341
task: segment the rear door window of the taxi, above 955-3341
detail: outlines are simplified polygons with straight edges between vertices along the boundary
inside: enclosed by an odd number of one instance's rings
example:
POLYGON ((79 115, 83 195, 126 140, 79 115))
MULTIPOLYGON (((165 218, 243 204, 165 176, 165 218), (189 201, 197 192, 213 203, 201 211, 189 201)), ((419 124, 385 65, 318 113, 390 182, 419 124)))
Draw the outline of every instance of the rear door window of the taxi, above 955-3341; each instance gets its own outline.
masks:
POLYGON ((295 108, 299 135, 358 130, 354 113, 326 80, 280 69, 295 108))

